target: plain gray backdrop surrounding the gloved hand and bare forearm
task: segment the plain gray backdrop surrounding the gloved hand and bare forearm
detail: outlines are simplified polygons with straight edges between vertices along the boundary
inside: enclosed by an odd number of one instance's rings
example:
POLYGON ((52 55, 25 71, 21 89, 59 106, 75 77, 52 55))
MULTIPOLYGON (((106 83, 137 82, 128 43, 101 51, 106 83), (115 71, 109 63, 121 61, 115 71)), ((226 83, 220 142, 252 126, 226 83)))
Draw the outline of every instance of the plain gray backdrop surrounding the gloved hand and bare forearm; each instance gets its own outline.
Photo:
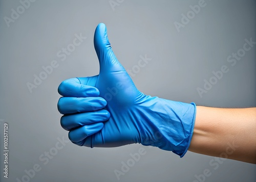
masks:
MULTIPOLYGON (((119 0, 119 2, 121 2, 119 0)), ((57 111, 61 81, 98 74, 93 35, 99 22, 108 28, 114 52, 126 69, 138 64, 140 55, 152 58, 136 76, 137 88, 148 95, 197 105, 224 108, 256 107, 255 46, 231 66, 226 61, 255 37, 255 1, 205 1, 190 22, 180 29, 181 14, 198 1, 123 1, 114 10, 109 1, 36 1, 10 27, 4 20, 19 1, 0 1, 0 119, 1 181, 17 181, 25 170, 40 165, 30 181, 118 181, 114 170, 140 147, 145 155, 119 181, 193 181, 209 169, 205 181, 255 181, 256 166, 226 160, 218 169, 214 159, 187 152, 184 158, 172 152, 139 144, 117 148, 87 148, 67 143, 44 165, 41 154, 55 146, 57 138, 68 139, 57 111), (75 34, 87 39, 60 61, 56 53, 72 43, 75 34), (59 66, 30 93, 42 66, 56 60, 59 66), (229 72, 201 98, 212 71, 227 65, 229 72), (3 123, 9 124, 9 178, 3 177, 3 123)))

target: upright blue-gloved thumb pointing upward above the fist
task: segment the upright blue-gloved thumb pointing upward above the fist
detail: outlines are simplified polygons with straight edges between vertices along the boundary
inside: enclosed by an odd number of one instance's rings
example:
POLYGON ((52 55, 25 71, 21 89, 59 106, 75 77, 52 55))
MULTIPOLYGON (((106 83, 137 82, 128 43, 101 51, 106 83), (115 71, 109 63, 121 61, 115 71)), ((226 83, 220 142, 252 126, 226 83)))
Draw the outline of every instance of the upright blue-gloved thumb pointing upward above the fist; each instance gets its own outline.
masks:
POLYGON ((100 73, 124 71, 110 46, 104 23, 99 23, 95 30, 94 48, 99 59, 100 73))

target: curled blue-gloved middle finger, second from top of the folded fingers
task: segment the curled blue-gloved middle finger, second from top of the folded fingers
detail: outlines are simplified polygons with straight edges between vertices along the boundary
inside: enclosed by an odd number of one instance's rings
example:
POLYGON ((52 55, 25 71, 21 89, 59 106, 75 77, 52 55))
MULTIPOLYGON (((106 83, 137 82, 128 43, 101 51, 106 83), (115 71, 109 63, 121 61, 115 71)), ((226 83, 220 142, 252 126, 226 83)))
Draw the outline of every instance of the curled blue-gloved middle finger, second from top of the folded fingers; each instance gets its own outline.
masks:
POLYGON ((61 114, 73 114, 103 109, 106 100, 102 97, 60 97, 57 106, 61 114))

